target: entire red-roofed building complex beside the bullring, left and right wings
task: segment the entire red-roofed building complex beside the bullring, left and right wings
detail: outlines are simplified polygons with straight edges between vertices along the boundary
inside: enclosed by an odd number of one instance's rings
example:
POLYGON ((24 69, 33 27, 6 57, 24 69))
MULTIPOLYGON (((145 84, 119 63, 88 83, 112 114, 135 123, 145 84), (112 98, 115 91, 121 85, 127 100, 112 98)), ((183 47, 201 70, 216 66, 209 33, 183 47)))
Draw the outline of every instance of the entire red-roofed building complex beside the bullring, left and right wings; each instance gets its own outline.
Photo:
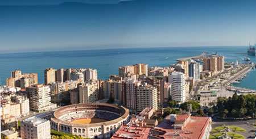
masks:
POLYGON ((131 119, 123 125, 112 137, 134 139, 207 139, 212 129, 210 117, 190 115, 169 115, 156 127, 146 127, 142 121, 131 119))

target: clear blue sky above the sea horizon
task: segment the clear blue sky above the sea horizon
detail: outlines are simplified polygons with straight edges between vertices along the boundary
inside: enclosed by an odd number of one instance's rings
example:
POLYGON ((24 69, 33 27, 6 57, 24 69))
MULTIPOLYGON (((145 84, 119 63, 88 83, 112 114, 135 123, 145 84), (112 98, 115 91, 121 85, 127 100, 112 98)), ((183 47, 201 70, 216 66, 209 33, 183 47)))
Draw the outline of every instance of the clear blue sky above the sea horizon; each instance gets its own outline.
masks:
POLYGON ((236 0, 0 1, 0 53, 254 44, 255 5, 236 0))

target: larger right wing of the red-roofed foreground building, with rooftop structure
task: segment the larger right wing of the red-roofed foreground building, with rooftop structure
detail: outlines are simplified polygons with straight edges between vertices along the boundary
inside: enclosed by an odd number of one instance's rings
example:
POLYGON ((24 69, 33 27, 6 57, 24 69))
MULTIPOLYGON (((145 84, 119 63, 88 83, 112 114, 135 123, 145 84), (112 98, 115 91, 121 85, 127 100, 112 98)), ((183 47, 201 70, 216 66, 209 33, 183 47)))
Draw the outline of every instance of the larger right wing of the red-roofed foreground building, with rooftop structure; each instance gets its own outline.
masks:
POLYGON ((151 130, 152 134, 149 138, 209 138, 210 130, 212 129, 211 121, 210 117, 169 115, 157 127, 151 130))

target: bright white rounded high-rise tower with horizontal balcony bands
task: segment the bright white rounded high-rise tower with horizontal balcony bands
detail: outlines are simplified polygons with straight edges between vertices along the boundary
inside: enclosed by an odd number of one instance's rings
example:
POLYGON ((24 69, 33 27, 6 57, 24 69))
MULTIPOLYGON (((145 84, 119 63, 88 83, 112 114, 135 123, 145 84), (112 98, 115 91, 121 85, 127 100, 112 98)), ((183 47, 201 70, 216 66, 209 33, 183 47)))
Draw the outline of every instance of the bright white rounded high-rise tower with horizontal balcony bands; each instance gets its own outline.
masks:
POLYGON ((172 100, 183 103, 186 99, 185 91, 185 74, 181 72, 173 72, 171 74, 172 83, 172 100))

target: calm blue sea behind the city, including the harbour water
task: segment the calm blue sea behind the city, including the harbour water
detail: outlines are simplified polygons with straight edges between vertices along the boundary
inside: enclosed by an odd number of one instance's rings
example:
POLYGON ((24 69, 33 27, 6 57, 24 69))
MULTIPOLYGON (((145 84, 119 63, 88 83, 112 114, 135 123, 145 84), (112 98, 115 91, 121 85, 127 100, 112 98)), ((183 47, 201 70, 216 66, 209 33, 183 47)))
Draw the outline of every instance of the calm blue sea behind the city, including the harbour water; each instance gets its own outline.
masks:
MULTIPOLYGON (((0 54, 1 85, 6 85, 6 78, 11 71, 38 73, 38 82, 44 83, 44 70, 47 68, 93 68, 98 71, 98 79, 108 79, 109 75, 118 75, 118 68, 124 65, 148 64, 151 66, 170 66, 177 58, 199 56, 203 52, 218 53, 225 56, 225 62, 251 62, 255 56, 247 56, 244 47, 166 47, 166 48, 129 48, 101 50, 71 50, 58 52, 2 53, 0 54)), ((247 77, 236 86, 256 90, 256 70, 251 70, 247 77)))

